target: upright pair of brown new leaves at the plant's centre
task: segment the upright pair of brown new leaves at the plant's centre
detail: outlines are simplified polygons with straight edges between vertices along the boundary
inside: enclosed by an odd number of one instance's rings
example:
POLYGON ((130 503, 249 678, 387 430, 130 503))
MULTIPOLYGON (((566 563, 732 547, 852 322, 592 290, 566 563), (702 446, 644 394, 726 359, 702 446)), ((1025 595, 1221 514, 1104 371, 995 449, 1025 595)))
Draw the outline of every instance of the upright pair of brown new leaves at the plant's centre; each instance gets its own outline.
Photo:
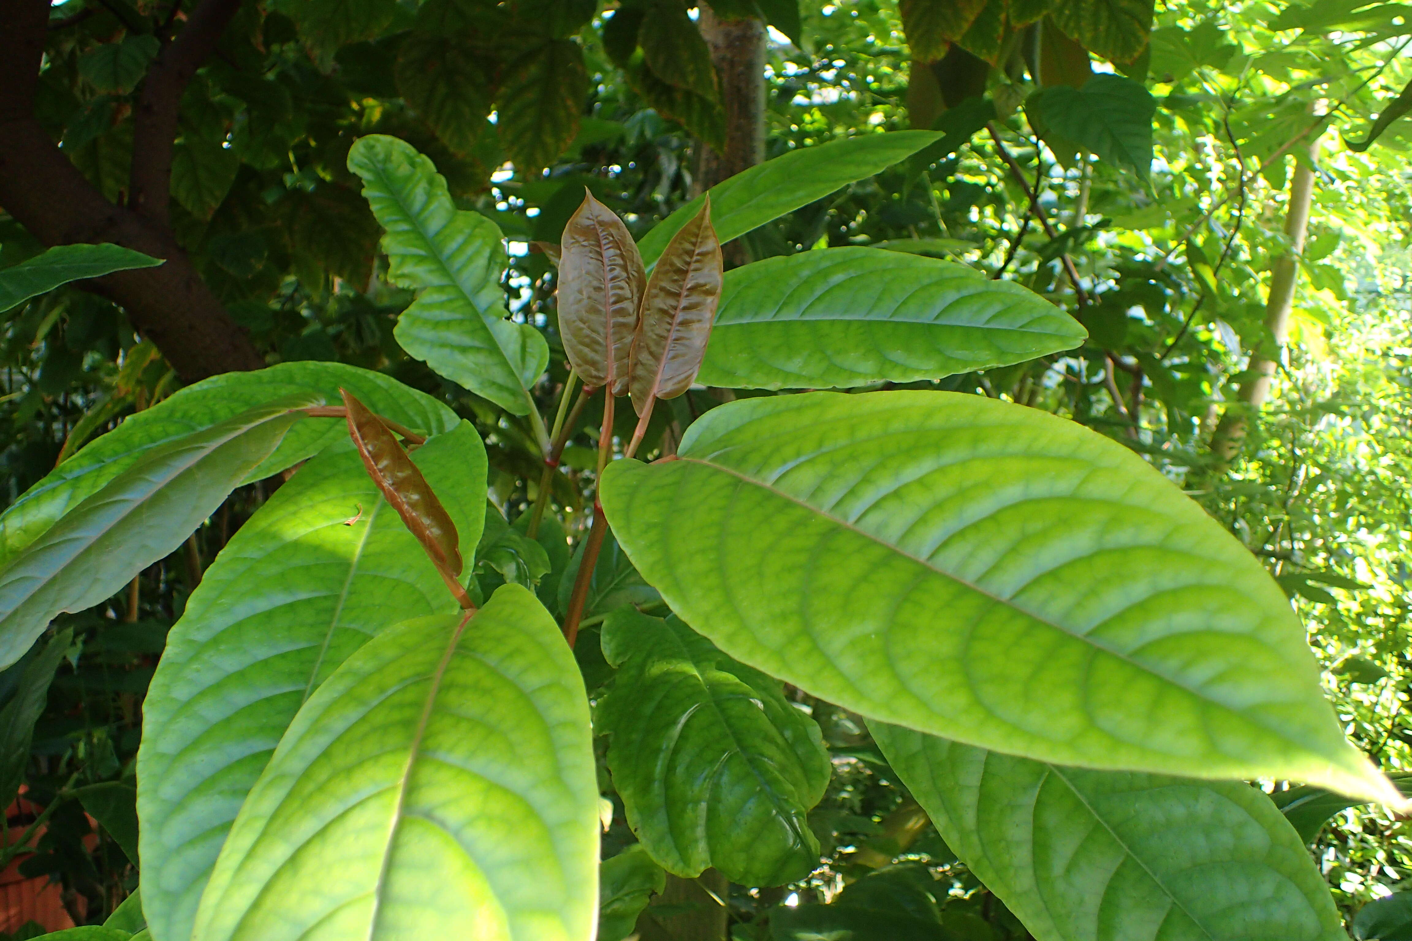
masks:
POLYGON ((586 192, 559 254, 559 333, 585 391, 630 395, 645 430, 652 403, 685 392, 700 370, 722 274, 709 195, 648 278, 627 226, 586 192))

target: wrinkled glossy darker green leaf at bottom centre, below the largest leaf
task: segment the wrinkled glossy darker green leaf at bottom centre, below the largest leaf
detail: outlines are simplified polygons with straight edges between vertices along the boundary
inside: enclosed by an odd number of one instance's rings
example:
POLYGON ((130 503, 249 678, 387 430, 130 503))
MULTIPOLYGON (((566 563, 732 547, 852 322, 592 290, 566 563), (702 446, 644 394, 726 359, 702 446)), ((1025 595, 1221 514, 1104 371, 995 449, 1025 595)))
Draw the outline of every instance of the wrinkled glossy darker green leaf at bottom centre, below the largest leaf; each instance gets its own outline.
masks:
POLYGON ((681 621, 633 609, 603 624, 603 655, 618 672, 594 729, 652 858, 678 876, 714 866, 747 886, 812 872, 808 814, 829 784, 829 753, 779 684, 681 621))

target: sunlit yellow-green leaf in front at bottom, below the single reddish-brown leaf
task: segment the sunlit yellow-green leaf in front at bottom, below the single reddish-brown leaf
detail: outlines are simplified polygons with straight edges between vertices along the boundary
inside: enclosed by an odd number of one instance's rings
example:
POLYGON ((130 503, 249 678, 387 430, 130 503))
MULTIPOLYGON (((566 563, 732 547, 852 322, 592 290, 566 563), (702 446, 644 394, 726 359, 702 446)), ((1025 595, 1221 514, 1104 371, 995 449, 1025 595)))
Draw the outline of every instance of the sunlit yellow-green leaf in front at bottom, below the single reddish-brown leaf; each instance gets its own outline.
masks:
POLYGON ((383 632, 309 698, 222 851, 195 941, 589 941, 589 704, 520 585, 383 632))

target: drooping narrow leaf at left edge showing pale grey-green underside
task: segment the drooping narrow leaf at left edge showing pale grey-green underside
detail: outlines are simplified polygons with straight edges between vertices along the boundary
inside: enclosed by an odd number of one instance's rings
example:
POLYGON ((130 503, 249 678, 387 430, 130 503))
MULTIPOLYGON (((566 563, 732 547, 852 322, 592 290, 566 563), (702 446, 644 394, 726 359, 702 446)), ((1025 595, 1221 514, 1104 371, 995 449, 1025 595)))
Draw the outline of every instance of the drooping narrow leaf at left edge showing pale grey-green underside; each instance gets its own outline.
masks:
MULTIPOLYGON (((213 514, 301 419, 289 396, 152 449, 0 569, 0 666, 62 611, 106 600, 213 514)), ((305 419, 309 420, 309 419, 305 419)))

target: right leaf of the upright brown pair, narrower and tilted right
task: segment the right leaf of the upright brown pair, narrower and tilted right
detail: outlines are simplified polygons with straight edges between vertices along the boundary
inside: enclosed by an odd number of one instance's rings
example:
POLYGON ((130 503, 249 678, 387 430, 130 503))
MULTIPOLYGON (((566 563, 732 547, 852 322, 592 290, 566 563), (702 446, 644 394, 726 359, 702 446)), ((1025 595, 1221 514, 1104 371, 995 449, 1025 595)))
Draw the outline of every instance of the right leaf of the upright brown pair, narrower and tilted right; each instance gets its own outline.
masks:
POLYGON ((672 236, 642 293, 633 339, 631 392, 638 415, 654 398, 676 398, 696 378, 720 300, 720 240, 710 224, 710 196, 672 236))

